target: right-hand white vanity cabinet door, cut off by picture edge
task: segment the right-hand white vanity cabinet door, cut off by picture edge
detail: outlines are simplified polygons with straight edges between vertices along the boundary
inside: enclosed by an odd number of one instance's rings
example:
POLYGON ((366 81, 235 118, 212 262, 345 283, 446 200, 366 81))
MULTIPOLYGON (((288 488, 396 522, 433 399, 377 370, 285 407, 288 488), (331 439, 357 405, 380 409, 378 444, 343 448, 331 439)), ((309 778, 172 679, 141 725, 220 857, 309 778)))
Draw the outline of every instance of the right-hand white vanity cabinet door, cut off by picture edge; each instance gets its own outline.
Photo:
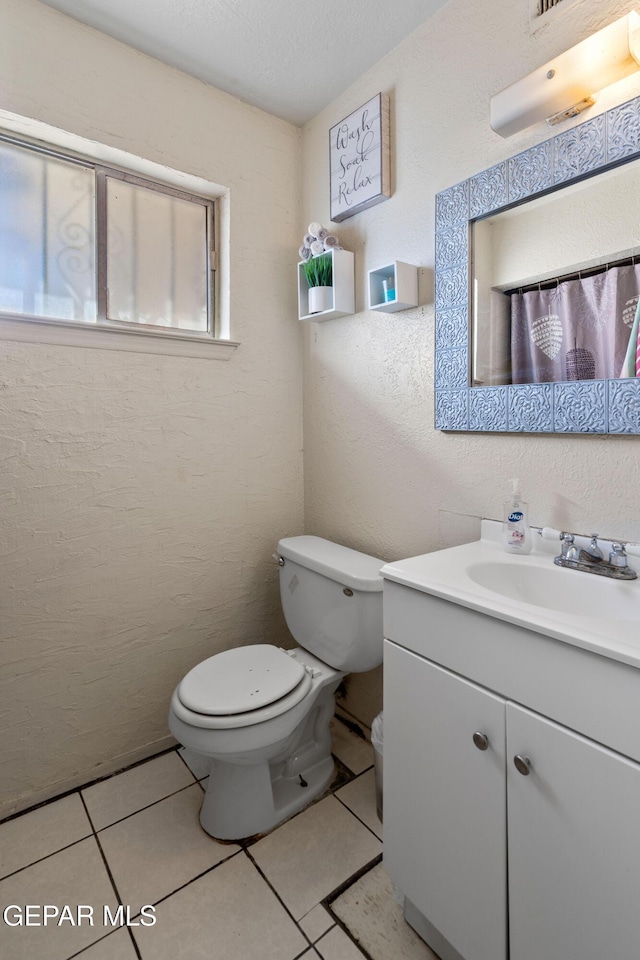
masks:
POLYGON ((514 704, 507 744, 511 960, 638 960, 640 766, 514 704))

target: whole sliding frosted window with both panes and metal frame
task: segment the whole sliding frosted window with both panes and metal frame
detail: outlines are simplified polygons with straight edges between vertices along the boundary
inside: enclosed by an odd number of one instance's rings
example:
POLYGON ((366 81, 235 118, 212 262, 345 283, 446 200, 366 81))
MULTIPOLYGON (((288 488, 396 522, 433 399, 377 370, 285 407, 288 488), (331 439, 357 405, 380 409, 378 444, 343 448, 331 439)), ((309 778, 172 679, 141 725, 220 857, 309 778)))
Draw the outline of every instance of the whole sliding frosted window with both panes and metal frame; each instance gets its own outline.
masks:
POLYGON ((0 131, 0 322, 215 337, 215 201, 0 131))

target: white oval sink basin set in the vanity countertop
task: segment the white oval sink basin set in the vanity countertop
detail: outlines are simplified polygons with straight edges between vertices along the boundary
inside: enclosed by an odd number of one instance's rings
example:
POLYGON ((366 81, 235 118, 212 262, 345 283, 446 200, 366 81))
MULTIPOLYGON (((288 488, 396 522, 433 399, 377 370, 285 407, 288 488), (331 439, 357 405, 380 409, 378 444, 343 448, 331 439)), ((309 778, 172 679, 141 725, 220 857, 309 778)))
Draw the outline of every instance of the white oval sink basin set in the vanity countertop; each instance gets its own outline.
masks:
POLYGON ((553 565, 541 568, 519 557, 518 562, 488 561, 471 564, 467 576, 481 587, 518 603, 531 603, 576 617, 640 620, 637 590, 623 580, 553 565))

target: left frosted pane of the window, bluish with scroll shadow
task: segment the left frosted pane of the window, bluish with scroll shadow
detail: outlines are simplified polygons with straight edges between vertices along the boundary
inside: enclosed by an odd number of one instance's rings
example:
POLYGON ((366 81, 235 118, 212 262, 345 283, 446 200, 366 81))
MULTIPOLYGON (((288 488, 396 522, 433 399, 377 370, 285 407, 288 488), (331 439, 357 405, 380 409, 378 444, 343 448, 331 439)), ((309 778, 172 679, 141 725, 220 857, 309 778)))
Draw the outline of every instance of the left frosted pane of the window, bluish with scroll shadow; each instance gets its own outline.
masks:
POLYGON ((91 167, 0 142, 0 311, 96 321, 91 167))

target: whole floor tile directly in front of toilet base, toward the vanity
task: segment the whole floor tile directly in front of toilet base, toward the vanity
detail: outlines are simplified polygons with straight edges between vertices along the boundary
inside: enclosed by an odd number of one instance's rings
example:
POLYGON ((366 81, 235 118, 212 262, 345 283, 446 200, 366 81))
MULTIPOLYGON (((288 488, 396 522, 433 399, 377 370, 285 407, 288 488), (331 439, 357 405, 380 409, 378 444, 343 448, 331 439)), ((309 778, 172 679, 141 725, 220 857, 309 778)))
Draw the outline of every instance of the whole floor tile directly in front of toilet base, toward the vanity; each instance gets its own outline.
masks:
POLYGON ((335 797, 325 797, 250 847, 296 920, 381 852, 335 797))

